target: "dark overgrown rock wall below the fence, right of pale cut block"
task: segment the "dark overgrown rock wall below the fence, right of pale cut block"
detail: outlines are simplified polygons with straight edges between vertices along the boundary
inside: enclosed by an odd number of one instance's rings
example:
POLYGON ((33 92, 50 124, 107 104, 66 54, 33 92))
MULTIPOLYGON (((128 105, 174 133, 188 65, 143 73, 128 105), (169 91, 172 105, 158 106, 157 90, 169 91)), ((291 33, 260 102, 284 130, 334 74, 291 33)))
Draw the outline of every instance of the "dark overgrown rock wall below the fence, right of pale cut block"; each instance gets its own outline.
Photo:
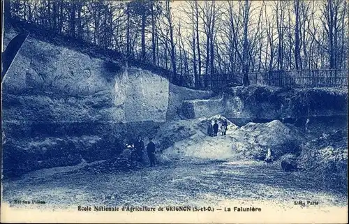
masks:
POLYGON ((235 87, 226 94, 226 116, 251 119, 333 117, 348 114, 347 89, 235 87))

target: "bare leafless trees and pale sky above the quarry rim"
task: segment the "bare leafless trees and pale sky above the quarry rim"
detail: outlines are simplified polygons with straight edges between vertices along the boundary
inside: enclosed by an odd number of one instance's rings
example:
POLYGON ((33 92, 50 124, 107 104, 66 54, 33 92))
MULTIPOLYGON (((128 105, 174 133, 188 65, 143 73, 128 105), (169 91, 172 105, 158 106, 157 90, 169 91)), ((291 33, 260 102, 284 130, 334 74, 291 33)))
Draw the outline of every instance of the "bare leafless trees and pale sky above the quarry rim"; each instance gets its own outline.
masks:
POLYGON ((346 0, 6 0, 5 17, 160 66, 191 87, 239 73, 248 85, 253 73, 348 70, 346 0))

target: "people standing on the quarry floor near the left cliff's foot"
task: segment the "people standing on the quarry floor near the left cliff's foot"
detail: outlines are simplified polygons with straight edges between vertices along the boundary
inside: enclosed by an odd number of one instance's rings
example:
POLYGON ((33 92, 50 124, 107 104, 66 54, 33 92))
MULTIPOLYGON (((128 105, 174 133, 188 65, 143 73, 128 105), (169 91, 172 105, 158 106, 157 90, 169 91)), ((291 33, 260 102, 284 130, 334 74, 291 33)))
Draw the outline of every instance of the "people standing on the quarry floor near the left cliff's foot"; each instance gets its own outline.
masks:
MULTIPOLYGON (((133 144, 133 156, 136 157, 135 160, 139 160, 141 163, 143 162, 144 146, 142 136, 138 136, 138 140, 133 144)), ((155 167, 155 144, 151 137, 149 137, 149 143, 147 144, 147 155, 150 166, 155 167)))

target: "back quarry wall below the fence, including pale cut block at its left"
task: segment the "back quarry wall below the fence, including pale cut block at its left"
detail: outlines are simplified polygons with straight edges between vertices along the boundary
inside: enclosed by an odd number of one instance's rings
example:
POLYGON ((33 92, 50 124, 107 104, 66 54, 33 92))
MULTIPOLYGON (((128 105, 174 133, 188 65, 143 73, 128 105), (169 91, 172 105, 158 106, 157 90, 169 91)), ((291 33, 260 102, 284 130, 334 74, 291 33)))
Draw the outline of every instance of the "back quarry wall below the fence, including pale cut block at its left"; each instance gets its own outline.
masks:
POLYGON ((182 110, 189 119, 223 114, 232 121, 336 117, 348 114, 346 89, 280 89, 232 87, 223 99, 188 100, 182 110))

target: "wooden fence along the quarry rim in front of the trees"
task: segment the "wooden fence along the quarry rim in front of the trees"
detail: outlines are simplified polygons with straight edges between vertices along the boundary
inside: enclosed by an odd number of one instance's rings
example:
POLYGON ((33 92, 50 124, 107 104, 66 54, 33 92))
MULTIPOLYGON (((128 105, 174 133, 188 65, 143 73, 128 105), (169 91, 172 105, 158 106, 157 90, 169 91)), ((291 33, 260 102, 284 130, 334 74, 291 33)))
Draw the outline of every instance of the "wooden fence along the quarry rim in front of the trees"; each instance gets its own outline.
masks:
MULTIPOLYGON (((227 85, 242 85, 242 73, 202 75, 194 84, 193 76, 182 77, 185 87, 195 89, 219 89, 227 85)), ((285 70, 264 73, 248 73, 250 84, 270 85, 274 87, 311 88, 339 87, 348 88, 348 70, 285 70)))

